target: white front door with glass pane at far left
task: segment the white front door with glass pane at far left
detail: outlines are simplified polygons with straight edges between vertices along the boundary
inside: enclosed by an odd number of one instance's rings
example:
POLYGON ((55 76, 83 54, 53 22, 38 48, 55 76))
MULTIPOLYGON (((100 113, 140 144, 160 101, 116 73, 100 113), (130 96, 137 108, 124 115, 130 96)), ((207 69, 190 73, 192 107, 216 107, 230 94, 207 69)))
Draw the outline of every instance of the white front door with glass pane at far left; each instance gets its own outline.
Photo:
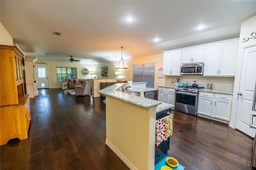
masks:
POLYGON ((47 66, 37 66, 36 67, 36 80, 37 88, 49 88, 48 81, 48 67, 47 66))

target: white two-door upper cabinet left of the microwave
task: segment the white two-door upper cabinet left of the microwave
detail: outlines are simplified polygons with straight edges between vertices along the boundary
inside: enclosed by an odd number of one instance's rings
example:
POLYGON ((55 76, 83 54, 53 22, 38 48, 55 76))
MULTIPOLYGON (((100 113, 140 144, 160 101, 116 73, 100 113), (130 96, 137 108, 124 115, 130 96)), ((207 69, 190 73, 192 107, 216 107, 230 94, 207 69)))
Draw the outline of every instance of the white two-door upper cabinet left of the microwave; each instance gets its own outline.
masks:
POLYGON ((164 52, 164 75, 180 76, 181 50, 164 52))

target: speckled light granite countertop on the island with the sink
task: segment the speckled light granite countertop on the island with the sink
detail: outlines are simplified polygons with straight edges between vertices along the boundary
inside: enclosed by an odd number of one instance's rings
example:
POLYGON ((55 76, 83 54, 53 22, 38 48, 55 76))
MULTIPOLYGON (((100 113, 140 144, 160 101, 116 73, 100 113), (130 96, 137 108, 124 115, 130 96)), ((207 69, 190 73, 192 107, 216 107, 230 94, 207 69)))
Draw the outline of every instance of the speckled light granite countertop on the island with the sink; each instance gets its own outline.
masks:
POLYGON ((156 113, 174 107, 174 105, 172 105, 172 104, 162 103, 157 100, 151 100, 151 99, 145 98, 144 92, 150 92, 153 90, 157 90, 154 88, 147 88, 146 82, 132 83, 131 92, 140 92, 140 96, 135 96, 135 95, 126 94, 124 92, 121 92, 121 88, 125 84, 127 84, 127 83, 116 83, 112 86, 109 86, 108 88, 99 90, 98 93, 103 94, 105 96, 110 96, 112 98, 116 98, 118 100, 127 102, 129 104, 133 104, 135 106, 142 107, 142 108, 156 107, 156 113))

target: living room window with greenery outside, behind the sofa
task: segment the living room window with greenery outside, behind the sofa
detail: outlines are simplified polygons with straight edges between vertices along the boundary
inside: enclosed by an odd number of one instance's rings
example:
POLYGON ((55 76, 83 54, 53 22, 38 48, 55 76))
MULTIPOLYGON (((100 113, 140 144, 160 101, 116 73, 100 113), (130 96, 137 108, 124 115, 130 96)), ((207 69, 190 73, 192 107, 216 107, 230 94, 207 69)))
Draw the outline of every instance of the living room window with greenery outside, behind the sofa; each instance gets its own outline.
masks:
POLYGON ((75 67, 57 67, 57 82, 62 82, 65 79, 76 79, 75 67))

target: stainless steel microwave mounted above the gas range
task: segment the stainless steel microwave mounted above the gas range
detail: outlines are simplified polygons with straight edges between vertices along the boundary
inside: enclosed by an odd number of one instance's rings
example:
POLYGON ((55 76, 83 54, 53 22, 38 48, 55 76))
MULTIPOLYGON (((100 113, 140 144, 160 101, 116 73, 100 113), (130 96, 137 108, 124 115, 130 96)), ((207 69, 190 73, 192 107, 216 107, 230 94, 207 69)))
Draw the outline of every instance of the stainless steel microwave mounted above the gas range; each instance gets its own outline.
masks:
POLYGON ((182 64, 180 67, 180 74, 203 75, 203 73, 204 63, 182 64))

